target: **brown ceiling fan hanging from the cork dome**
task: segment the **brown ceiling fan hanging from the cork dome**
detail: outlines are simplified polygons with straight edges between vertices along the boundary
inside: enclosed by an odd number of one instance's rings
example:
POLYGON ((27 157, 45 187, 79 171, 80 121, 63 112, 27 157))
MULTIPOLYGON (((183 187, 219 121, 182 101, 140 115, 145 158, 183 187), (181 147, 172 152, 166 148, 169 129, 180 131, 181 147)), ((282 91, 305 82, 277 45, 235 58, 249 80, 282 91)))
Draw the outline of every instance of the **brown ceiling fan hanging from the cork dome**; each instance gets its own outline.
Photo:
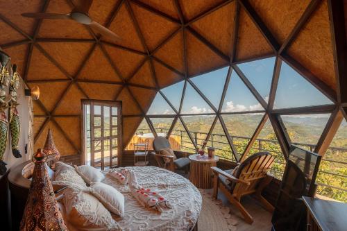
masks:
POLYGON ((121 40, 118 35, 110 31, 108 28, 105 28, 105 26, 94 22, 90 18, 88 11, 90 10, 90 6, 92 6, 92 2, 93 0, 80 0, 78 1, 79 4, 75 4, 75 8, 67 14, 26 12, 23 13, 22 16, 34 19, 71 19, 80 24, 90 26, 94 32, 100 33, 103 36, 112 37, 115 40, 121 40))

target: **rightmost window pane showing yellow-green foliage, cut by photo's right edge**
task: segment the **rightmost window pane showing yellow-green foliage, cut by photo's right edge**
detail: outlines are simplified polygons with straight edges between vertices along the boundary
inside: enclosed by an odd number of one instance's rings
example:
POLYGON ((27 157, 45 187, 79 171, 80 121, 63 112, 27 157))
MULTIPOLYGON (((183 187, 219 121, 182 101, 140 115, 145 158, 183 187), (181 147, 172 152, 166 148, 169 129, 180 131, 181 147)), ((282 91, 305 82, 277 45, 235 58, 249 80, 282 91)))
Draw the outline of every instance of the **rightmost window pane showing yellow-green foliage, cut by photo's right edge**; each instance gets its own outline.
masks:
POLYGON ((347 122, 344 119, 319 165, 317 194, 347 202, 347 122), (330 187, 331 186, 331 187, 330 187), (335 188, 332 188, 335 187, 335 188))

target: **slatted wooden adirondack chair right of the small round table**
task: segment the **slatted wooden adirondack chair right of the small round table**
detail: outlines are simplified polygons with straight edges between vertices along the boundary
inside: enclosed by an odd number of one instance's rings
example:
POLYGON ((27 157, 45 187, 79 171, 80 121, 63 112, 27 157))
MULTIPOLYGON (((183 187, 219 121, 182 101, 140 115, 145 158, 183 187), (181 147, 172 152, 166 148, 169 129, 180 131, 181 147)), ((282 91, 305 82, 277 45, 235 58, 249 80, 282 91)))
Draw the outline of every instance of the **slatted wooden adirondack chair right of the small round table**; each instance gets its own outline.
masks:
POLYGON ((268 174, 273 164, 270 153, 255 153, 239 164, 237 169, 223 171, 212 167, 214 173, 213 196, 217 199, 218 189, 223 191, 230 203, 242 213, 247 223, 253 223, 253 218, 241 204, 242 196, 253 194, 265 209, 273 212, 273 206, 262 196, 262 189, 269 185, 273 176, 268 174))

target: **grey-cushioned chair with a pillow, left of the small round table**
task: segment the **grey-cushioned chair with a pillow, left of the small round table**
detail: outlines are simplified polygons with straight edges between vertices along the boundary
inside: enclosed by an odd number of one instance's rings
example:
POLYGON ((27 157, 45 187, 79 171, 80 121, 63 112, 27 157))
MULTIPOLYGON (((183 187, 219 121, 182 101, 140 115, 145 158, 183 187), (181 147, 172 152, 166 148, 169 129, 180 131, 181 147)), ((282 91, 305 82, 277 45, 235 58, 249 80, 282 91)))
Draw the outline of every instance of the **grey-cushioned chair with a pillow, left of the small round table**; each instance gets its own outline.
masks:
POLYGON ((177 169, 185 170, 187 173, 189 169, 189 158, 187 158, 187 153, 185 157, 177 158, 176 155, 163 155, 162 150, 171 148, 169 141, 165 137, 155 137, 153 140, 153 149, 155 151, 154 157, 158 163, 158 166, 163 169, 168 169, 170 171, 175 171, 177 169))

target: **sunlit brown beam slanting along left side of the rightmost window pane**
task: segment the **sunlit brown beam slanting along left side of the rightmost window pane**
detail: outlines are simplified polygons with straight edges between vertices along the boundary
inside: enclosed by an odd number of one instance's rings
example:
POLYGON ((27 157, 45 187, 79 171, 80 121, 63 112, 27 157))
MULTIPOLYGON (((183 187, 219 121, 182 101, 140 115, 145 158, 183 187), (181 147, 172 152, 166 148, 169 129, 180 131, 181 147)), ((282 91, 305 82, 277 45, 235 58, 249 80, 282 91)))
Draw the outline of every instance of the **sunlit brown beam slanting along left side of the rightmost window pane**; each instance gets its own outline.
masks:
POLYGON ((343 119, 344 114, 342 114, 340 108, 337 107, 335 111, 330 114, 329 120, 325 125, 323 133, 319 138, 316 147, 314 148, 314 153, 318 153, 319 155, 325 154, 332 142, 332 139, 335 137, 336 132, 339 129, 339 126, 343 119))

